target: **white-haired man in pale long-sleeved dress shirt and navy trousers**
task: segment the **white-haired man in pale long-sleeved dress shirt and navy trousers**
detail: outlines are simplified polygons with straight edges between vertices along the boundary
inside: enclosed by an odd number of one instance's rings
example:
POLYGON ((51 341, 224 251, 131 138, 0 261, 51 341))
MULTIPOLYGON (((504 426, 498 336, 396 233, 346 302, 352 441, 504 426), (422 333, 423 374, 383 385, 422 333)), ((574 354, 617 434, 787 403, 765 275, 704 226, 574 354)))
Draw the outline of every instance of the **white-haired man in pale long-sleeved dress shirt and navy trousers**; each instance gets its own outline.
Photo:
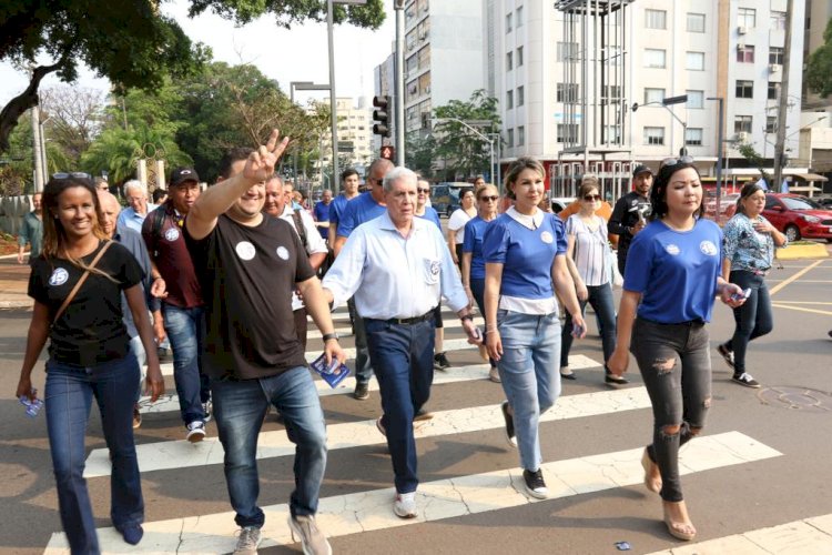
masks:
POLYGON ((335 306, 355 295, 382 392, 377 425, 393 460, 393 509, 412 518, 418 486, 413 420, 430 396, 434 307, 440 297, 456 311, 469 341, 480 339, 442 232, 414 218, 416 174, 395 168, 383 186, 387 212, 351 233, 322 285, 335 306))

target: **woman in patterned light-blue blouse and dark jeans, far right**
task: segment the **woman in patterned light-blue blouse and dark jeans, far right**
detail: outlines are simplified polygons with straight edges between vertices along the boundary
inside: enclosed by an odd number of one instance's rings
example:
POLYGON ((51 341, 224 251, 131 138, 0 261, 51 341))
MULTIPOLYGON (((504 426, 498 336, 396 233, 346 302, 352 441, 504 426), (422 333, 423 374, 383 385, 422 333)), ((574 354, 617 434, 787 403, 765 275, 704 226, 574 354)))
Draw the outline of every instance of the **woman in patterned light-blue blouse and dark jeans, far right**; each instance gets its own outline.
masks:
POLYGON ((745 387, 760 387, 745 372, 745 351, 750 341, 774 327, 765 274, 774 260, 774 245, 784 246, 787 242, 785 235, 763 218, 763 208, 765 191, 757 183, 747 184, 737 200, 737 214, 722 230, 722 278, 750 290, 750 294, 742 306, 733 310, 733 336, 717 350, 733 370, 731 380, 745 387))

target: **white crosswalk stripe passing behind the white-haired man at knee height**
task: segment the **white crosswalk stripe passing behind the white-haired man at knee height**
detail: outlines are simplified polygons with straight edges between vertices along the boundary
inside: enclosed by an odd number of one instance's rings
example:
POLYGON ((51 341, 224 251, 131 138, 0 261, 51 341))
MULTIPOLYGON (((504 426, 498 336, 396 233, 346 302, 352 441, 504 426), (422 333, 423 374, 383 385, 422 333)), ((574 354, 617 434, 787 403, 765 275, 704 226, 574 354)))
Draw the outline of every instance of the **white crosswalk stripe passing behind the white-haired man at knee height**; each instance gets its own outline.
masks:
MULTIPOLYGON (((582 354, 569 356, 569 367, 572 370, 600 369, 602 365, 592 359, 582 354)), ((444 372, 434 373, 434 385, 446 383, 467 382, 473 380, 488 380, 488 364, 471 364, 468 366, 451 366, 444 372)), ((315 380, 318 396, 327 397, 329 395, 348 395, 355 390, 355 376, 344 379, 337 387, 329 387, 323 380, 315 380)), ((369 382, 369 391, 378 391, 378 382, 369 382)), ((142 397, 139 401, 142 414, 163 413, 179 411, 179 396, 176 394, 164 395, 153 404, 150 404, 150 397, 142 397)))

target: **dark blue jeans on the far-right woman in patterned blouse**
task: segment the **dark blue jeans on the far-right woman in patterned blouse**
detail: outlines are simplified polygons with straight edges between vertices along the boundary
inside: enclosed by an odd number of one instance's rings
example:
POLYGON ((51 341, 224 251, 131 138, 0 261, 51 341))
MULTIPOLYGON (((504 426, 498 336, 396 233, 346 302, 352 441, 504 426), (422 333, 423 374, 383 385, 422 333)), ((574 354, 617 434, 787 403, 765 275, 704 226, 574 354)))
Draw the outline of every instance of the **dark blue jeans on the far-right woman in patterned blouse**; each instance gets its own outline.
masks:
POLYGON ((729 281, 750 289, 751 295, 733 310, 737 324, 733 337, 728 342, 728 349, 733 351, 733 369, 735 374, 745 372, 745 351, 749 342, 770 333, 774 329, 774 317, 771 311, 771 296, 765 285, 765 278, 744 270, 731 272, 729 281))

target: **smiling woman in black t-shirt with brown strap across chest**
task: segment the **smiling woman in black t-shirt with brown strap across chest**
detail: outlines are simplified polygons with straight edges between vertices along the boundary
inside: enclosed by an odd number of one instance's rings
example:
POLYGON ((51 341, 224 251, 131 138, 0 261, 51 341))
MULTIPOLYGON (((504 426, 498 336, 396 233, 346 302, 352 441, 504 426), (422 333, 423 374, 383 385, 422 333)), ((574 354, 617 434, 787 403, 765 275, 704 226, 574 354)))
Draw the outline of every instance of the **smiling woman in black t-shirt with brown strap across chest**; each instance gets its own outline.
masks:
POLYGON ((129 544, 143 534, 144 502, 133 443, 139 363, 130 353, 121 292, 148 355, 148 390, 164 391, 141 269, 124 246, 105 241, 92 180, 52 176, 43 191, 43 249, 33 262, 34 299, 17 396, 34 401, 31 373, 47 339, 44 405, 61 523, 73 554, 100 553, 84 472, 84 436, 93 397, 112 458, 110 517, 129 544))

